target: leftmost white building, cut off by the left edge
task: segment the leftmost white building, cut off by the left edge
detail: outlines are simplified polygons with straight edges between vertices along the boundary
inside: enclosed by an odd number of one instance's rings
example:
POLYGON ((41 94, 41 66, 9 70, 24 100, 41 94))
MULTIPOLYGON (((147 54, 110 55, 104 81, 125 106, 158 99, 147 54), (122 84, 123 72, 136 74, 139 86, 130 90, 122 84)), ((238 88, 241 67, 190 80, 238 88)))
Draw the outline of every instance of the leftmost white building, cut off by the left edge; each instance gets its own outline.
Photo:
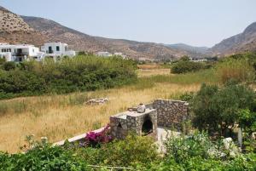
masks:
POLYGON ((24 61, 28 59, 41 60, 44 53, 39 51, 39 48, 30 44, 1 44, 0 58, 6 61, 24 61))

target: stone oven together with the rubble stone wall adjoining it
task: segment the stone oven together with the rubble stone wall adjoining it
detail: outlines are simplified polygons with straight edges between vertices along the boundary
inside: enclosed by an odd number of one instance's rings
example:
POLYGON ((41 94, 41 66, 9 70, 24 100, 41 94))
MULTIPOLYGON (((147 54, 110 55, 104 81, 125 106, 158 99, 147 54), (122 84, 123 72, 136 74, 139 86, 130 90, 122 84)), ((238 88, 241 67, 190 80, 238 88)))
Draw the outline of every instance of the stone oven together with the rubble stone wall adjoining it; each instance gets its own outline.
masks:
POLYGON ((189 118, 189 104, 180 100, 154 100, 146 105, 146 111, 137 112, 137 107, 110 117, 111 134, 114 138, 123 139, 129 131, 137 135, 153 133, 157 127, 182 130, 182 123, 189 118))

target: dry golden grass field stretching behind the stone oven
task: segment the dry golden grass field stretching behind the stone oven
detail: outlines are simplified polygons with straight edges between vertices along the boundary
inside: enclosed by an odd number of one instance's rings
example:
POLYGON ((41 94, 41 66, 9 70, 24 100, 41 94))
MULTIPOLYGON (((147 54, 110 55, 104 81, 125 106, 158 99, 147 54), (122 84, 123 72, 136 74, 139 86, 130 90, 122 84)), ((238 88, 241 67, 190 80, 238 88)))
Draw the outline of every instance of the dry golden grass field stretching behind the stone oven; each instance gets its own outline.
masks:
MULTIPOLYGON (((67 139, 106 125, 111 115, 132 105, 158 98, 177 99, 201 86, 202 78, 195 75, 177 77, 165 76, 162 70, 153 72, 152 77, 148 71, 138 71, 138 83, 122 88, 0 101, 0 151, 19 151, 29 134, 46 136, 50 142, 67 139), (84 105, 84 101, 96 97, 108 97, 109 101, 104 105, 84 105)), ((207 77, 203 79, 208 81, 207 77)))

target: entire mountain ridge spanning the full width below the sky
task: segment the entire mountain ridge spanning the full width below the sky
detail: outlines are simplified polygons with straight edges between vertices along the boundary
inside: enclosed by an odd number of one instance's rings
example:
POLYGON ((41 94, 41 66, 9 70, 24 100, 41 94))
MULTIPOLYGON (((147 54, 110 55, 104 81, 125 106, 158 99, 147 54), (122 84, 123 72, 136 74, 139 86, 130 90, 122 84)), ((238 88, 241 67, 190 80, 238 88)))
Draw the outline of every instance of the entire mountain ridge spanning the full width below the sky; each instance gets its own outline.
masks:
POLYGON ((184 43, 148 43, 126 39, 90 36, 41 17, 23 16, 0 6, 0 43, 31 43, 41 46, 45 42, 68 43, 77 51, 96 53, 121 52, 133 59, 170 60, 183 55, 190 57, 219 57, 246 51, 256 51, 256 22, 233 37, 212 48, 194 47, 184 43))

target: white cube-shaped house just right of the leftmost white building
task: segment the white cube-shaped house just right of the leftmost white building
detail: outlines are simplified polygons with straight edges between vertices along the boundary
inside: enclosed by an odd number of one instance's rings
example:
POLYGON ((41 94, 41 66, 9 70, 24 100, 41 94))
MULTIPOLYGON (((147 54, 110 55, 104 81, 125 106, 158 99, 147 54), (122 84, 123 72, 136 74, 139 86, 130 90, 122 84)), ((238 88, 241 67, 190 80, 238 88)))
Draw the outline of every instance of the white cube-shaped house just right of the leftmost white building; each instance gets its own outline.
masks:
POLYGON ((61 56, 73 57, 76 52, 68 48, 67 43, 44 43, 41 50, 45 53, 45 56, 56 59, 61 56))

